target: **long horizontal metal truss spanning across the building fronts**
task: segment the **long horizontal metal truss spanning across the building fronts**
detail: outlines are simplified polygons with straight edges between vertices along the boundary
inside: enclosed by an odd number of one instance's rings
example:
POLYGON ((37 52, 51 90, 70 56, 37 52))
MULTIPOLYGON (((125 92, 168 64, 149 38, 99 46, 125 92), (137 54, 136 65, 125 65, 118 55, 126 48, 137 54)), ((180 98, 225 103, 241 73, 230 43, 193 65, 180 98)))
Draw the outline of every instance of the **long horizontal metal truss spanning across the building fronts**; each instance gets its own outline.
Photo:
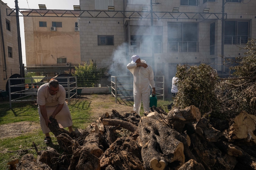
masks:
MULTIPOLYGON (((6 9, 7 16, 17 16, 16 9, 6 9)), ((152 12, 153 19, 222 20, 222 13, 203 12, 152 12)), ((224 14, 227 17, 227 13, 224 14)), ((80 18, 137 18, 151 19, 151 12, 145 11, 100 11, 61 9, 18 9, 19 17, 80 17, 80 18), (23 14, 24 11, 29 11, 23 14), (80 12, 80 14, 76 14, 80 12), (33 15, 32 15, 33 14, 33 15), (34 14, 38 14, 35 16, 34 14)), ((226 18, 225 18, 226 19, 226 18)))

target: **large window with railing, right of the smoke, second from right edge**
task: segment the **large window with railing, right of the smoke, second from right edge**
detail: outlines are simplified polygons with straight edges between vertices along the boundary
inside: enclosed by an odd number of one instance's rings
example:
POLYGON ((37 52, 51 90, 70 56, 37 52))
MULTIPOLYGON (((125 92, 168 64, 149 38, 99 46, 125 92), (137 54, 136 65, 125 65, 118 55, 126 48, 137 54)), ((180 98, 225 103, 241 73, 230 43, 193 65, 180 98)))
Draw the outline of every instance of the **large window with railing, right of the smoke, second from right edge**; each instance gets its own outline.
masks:
POLYGON ((168 29, 168 52, 198 52, 198 24, 170 22, 168 29))

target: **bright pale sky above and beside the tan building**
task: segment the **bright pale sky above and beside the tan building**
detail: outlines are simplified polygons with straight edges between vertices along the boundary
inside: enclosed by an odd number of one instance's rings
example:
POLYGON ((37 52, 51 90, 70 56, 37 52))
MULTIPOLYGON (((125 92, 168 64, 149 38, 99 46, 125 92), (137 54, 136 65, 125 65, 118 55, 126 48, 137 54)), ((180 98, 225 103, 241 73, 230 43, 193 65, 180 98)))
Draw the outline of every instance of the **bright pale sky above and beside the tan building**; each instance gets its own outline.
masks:
MULTIPOLYGON (((11 9, 15 9, 15 0, 2 0, 7 3, 11 9)), ((73 5, 79 5, 79 0, 18 0, 18 7, 20 9, 39 9, 38 4, 45 4, 46 9, 66 9, 73 10, 73 5)), ((22 11, 22 10, 21 10, 22 11)), ((22 61, 26 66, 26 50, 25 50, 25 37, 24 37, 24 23, 23 17, 20 20, 20 39, 22 50, 22 61)))

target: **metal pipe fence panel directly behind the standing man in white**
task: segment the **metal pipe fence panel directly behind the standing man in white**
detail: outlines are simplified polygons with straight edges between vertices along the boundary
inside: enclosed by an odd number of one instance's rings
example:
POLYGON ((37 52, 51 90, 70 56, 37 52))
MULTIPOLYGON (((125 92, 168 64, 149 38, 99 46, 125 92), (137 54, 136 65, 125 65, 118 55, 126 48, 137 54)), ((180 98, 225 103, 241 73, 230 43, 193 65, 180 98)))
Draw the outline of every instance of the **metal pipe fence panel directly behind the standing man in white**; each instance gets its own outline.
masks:
MULTIPOLYGON (((154 76, 156 84, 156 95, 162 96, 165 100, 165 77, 164 76, 154 76)), ((122 99, 133 99, 133 76, 111 76, 111 96, 115 97, 115 102, 117 103, 117 98, 122 99)))

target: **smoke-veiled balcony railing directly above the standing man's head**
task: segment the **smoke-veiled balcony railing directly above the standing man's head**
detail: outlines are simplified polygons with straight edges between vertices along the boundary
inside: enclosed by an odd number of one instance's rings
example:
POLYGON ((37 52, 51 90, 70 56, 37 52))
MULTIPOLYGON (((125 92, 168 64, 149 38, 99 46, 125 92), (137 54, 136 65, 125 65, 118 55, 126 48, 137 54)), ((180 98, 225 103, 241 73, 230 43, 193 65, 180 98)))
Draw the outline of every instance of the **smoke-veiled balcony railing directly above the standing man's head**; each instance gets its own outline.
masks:
MULTIPOLYGON (((151 41, 131 41, 130 53, 151 53, 151 41)), ((154 41, 154 53, 162 53, 162 41, 154 41)))

